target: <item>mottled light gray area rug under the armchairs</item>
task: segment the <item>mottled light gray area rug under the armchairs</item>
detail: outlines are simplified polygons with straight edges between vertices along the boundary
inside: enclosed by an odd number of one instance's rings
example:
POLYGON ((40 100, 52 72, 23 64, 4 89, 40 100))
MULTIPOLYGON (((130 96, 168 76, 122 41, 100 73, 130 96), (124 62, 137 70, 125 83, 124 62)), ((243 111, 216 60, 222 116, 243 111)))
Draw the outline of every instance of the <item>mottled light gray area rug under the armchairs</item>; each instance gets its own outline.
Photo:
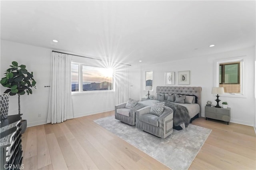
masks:
POLYGON ((94 122, 173 170, 187 170, 212 131, 190 124, 186 131, 173 130, 162 139, 121 123, 114 115, 94 122))

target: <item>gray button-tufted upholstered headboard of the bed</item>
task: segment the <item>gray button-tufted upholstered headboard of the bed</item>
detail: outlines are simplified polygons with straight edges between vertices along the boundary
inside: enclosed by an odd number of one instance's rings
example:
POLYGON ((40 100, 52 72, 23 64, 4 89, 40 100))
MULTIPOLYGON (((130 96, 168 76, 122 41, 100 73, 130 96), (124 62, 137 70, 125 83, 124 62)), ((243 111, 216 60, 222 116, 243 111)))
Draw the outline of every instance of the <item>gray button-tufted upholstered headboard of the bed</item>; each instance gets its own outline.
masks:
MULTIPOLYGON (((157 86, 156 93, 171 94, 177 93, 181 95, 195 95, 197 97, 197 103, 201 109, 201 91, 202 87, 172 87, 172 86, 157 86)), ((201 113, 198 114, 201 117, 201 113)))

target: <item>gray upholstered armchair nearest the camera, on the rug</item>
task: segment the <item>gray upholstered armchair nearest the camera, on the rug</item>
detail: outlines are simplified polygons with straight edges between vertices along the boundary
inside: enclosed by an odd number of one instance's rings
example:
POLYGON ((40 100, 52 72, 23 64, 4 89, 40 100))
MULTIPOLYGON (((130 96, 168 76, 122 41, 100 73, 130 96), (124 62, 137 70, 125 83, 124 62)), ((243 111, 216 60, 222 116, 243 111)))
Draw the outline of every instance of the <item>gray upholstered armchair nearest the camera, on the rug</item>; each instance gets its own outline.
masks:
POLYGON ((162 115, 150 114, 151 106, 136 111, 136 127, 160 138, 166 138, 172 134, 173 110, 164 107, 162 115))

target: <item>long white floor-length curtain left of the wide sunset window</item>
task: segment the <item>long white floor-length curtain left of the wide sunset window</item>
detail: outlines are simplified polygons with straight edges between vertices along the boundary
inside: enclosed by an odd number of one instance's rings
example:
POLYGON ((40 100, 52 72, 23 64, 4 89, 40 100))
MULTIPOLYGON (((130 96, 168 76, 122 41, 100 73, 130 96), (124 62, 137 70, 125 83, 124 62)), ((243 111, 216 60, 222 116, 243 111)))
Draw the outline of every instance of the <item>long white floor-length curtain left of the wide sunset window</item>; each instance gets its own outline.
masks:
POLYGON ((73 117, 71 99, 71 55, 52 52, 47 123, 61 123, 73 117))

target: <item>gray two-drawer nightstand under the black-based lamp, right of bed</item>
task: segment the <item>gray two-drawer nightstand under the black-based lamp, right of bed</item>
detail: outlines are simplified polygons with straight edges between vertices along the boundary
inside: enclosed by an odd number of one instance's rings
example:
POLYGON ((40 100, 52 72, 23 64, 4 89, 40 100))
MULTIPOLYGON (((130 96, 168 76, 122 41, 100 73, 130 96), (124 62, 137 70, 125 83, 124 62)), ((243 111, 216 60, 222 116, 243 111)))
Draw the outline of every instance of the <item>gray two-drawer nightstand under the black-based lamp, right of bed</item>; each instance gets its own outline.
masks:
POLYGON ((227 123, 230 122, 230 108, 227 109, 224 108, 218 108, 218 107, 204 107, 204 113, 205 113, 205 120, 207 118, 216 119, 220 121, 225 121, 227 123))

